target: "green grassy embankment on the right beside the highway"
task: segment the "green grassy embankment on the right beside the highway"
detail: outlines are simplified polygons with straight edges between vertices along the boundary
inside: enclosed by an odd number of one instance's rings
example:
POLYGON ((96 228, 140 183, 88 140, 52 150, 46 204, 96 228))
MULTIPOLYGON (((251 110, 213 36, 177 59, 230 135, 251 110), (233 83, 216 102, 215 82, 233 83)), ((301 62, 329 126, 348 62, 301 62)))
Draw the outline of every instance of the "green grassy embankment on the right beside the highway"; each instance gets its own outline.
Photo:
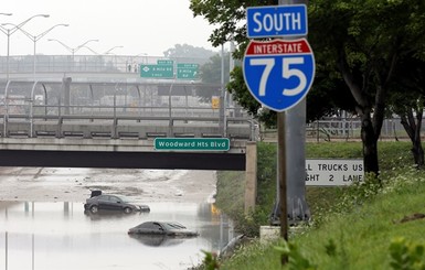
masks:
MULTIPOLYGON (((270 156, 270 149, 275 147, 261 148, 268 148, 258 152, 270 156)), ((391 268, 390 264, 394 261, 394 256, 390 253, 394 239, 403 237, 407 244, 425 244, 425 218, 402 222, 415 213, 425 214, 425 173, 412 166, 410 148, 408 142, 379 143, 383 188, 375 188, 373 183, 350 187, 308 187, 307 202, 311 208, 312 226, 302 234, 291 235, 289 244, 296 248, 290 249, 289 263, 284 268, 281 252, 276 248, 281 244, 262 245, 255 239, 253 244, 241 247, 231 259, 220 262, 220 269, 425 269, 391 268)), ((306 152, 307 158, 360 158, 361 142, 308 143, 306 152)), ((259 173, 272 171, 258 168, 259 173)), ((259 175, 258 181, 263 183, 258 183, 258 188, 275 191, 274 175, 269 177, 272 180, 259 175)), ((233 175, 226 181, 232 179, 237 177, 233 175)), ((231 196, 230 188, 221 188, 227 190, 231 196)), ((217 186, 217 197, 220 193, 217 186)), ((232 198, 234 203, 236 196, 232 198)), ((265 205, 259 205, 259 208, 272 207, 269 201, 262 202, 265 205)), ((410 249, 403 246, 400 250, 408 252, 410 249)), ((423 257, 418 258, 425 266, 423 257)), ((400 258, 414 260, 413 256, 400 258)))

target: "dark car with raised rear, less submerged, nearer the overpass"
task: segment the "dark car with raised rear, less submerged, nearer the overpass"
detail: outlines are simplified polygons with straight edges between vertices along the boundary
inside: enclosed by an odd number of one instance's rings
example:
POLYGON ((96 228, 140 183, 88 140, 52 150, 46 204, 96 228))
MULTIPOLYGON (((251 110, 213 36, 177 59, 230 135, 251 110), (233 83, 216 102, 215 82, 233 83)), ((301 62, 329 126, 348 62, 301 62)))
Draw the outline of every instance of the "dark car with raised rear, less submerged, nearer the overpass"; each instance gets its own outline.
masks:
POLYGON ((87 198, 84 204, 84 209, 92 214, 97 214, 99 210, 118 210, 126 214, 134 212, 150 212, 148 205, 136 205, 130 203, 125 196, 110 194, 99 194, 87 198))

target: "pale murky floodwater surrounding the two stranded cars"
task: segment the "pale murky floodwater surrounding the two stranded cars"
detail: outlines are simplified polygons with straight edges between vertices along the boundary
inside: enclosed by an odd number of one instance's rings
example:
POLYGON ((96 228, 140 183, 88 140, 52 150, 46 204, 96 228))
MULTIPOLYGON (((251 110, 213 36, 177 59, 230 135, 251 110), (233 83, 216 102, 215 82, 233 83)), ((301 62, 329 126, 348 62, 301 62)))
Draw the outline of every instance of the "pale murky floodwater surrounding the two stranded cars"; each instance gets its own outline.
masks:
POLYGON ((0 202, 0 269, 179 270, 202 262, 233 237, 232 223, 213 204, 151 203, 150 213, 84 213, 75 202, 0 202), (147 220, 179 222, 194 238, 132 238, 147 220))

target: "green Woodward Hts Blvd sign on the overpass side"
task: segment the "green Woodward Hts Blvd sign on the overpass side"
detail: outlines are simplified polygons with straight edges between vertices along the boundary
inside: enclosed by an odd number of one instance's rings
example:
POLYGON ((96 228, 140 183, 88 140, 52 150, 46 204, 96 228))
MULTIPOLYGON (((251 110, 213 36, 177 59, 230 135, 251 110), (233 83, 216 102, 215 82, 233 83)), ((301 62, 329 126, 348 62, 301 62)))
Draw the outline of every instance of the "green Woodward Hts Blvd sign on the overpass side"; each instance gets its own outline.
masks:
POLYGON ((159 151, 229 151, 227 138, 155 138, 159 151))

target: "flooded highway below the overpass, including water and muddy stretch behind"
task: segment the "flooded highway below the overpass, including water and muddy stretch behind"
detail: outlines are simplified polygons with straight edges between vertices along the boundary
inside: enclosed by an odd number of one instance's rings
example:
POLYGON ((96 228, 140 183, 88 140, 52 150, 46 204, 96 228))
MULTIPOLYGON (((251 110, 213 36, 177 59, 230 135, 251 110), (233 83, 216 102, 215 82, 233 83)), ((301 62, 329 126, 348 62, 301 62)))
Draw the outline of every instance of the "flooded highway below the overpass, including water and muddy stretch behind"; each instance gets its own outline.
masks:
POLYGON ((213 204, 215 172, 0 169, 0 270, 183 270, 217 252, 232 222, 213 204), (149 213, 89 214, 91 191, 119 194, 149 213), (177 222, 198 237, 131 237, 144 222, 177 222))

